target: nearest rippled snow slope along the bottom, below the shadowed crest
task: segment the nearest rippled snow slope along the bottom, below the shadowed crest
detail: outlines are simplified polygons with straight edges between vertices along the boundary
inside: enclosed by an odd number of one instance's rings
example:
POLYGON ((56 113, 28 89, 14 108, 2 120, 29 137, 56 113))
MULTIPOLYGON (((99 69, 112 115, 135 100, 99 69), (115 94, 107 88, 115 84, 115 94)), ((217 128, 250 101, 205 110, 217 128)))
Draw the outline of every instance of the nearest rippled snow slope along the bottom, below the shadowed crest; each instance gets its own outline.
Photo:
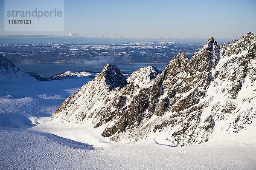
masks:
POLYGON ((0 127, 1 169, 255 169, 255 146, 168 147, 154 139, 102 149, 49 133, 0 127))

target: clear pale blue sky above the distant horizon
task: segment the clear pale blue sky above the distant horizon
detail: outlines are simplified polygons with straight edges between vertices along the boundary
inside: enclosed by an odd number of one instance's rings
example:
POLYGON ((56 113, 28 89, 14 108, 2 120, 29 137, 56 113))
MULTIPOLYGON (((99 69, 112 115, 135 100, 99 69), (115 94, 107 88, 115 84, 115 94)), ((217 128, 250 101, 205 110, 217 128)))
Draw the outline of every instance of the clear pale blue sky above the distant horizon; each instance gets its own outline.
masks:
MULTIPOLYGON (((28 4, 24 4, 28 5, 28 4)), ((65 31, 5 32, 0 0, 0 35, 241 37, 256 33, 256 0, 65 0, 65 31)))

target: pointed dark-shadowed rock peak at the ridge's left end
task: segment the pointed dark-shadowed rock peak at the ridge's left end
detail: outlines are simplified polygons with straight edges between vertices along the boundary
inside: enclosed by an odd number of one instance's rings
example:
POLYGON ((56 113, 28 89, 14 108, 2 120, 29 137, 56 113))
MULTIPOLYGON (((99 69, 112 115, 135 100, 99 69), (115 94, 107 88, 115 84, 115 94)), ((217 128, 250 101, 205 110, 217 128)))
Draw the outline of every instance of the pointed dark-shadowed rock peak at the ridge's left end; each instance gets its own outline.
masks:
POLYGON ((96 77, 96 80, 101 82, 105 80, 105 83, 109 86, 109 89, 127 85, 127 81, 124 75, 121 74, 119 68, 116 65, 107 64, 104 66, 102 72, 96 77))

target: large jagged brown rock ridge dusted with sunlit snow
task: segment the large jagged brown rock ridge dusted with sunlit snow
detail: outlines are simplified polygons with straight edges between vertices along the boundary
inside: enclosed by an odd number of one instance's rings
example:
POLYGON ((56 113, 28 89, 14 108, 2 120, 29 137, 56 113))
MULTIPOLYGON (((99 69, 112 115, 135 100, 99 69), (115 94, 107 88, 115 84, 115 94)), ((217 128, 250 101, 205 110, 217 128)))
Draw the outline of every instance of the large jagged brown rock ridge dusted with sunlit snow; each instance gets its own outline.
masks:
POLYGON ((150 66, 126 79, 105 65, 52 119, 104 125, 111 141, 153 137, 174 146, 239 133, 256 120, 256 35, 220 46, 210 37, 190 60, 179 53, 161 73, 150 66))

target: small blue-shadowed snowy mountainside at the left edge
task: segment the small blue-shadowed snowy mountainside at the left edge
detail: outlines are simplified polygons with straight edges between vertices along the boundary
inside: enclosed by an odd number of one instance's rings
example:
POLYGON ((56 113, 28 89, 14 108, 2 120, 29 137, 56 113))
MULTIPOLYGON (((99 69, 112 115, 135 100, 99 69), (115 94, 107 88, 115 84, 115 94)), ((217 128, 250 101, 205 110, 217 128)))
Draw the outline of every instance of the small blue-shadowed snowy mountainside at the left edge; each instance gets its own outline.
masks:
POLYGON ((0 82, 32 82, 35 78, 20 71, 10 60, 0 54, 0 82))

